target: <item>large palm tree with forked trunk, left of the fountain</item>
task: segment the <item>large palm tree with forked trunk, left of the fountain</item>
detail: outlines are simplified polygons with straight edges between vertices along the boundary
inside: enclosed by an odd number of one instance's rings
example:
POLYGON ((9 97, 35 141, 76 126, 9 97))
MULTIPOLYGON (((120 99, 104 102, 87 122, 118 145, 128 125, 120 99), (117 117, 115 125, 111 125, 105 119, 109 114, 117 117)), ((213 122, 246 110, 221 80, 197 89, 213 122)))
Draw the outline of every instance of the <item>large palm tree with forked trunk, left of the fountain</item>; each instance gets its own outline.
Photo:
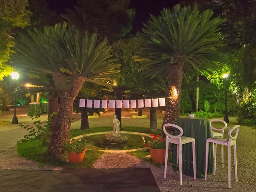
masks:
POLYGON ((57 116, 52 120, 49 152, 63 153, 63 144, 70 136, 73 102, 85 81, 102 84, 118 72, 116 59, 110 54, 107 40, 97 41, 97 34, 85 33, 67 27, 67 24, 46 26, 44 31, 34 29, 19 34, 12 62, 36 74, 53 77, 60 96, 57 116))

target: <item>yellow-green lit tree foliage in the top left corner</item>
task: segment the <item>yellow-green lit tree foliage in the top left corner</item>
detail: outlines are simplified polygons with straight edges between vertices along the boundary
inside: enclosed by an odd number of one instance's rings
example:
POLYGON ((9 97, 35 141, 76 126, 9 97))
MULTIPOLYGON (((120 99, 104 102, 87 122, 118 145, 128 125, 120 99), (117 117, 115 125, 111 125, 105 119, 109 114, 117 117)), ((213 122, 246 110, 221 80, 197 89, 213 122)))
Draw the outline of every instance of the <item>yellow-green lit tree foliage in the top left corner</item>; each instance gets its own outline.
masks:
POLYGON ((30 24, 28 0, 0 0, 0 80, 10 75, 13 68, 6 64, 12 53, 12 30, 30 24))

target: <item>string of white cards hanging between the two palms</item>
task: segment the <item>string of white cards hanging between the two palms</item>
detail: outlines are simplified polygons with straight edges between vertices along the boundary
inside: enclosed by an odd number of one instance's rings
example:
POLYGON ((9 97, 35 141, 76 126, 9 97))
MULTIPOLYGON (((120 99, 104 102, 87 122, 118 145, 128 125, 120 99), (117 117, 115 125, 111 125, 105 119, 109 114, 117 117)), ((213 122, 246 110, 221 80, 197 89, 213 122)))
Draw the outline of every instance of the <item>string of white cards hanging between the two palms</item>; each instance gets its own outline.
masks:
POLYGON ((79 99, 79 107, 87 107, 92 108, 100 108, 100 101, 101 101, 101 108, 136 108, 136 101, 138 102, 138 108, 144 107, 158 107, 158 106, 165 106, 165 98, 154 98, 154 99, 134 99, 134 100, 97 100, 94 99, 79 99), (151 103, 152 100, 152 103, 151 103), (145 105, 144 105, 145 101, 145 105), (159 104, 158 104, 159 101, 159 104), (109 103, 109 106, 108 106, 109 103))

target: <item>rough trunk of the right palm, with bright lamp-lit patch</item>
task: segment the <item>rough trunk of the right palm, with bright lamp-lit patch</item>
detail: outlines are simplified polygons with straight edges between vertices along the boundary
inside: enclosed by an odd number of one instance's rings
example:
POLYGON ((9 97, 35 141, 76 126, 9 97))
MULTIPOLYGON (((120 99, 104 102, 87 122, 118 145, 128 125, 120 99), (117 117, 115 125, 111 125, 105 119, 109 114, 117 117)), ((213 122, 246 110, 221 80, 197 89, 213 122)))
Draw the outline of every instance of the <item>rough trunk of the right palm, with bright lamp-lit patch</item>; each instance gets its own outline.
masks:
MULTIPOLYGON (((181 85, 183 78, 183 64, 181 61, 172 64, 170 67, 170 78, 169 78, 169 96, 170 99, 166 106, 166 113, 164 116, 164 122, 162 126, 166 123, 176 124, 176 120, 180 114, 180 97, 181 97, 181 85)), ((170 134, 174 134, 175 129, 166 129, 170 134)), ((164 132, 162 136, 165 137, 164 132)))

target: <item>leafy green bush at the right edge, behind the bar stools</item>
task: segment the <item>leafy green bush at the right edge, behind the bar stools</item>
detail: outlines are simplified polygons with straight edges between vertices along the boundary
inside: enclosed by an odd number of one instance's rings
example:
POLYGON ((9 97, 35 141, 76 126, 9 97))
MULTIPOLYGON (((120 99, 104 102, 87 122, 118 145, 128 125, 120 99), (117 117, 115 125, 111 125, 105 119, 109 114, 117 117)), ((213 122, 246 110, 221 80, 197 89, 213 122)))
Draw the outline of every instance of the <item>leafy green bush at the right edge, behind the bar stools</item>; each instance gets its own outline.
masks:
POLYGON ((237 120, 239 123, 252 125, 251 123, 254 122, 256 124, 256 100, 253 97, 249 97, 246 101, 241 102, 238 113, 237 120))

